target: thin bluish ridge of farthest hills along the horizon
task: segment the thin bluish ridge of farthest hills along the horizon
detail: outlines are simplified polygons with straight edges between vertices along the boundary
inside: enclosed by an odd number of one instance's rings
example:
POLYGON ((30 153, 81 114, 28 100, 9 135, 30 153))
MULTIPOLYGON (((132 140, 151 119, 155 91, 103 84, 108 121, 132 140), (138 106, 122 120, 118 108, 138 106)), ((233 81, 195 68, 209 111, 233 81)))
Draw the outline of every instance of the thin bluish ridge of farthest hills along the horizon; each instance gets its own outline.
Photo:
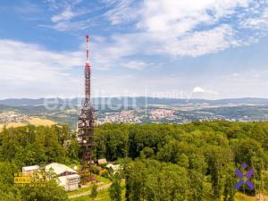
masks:
MULTIPOLYGON (((74 98, 71 100, 57 98, 58 104, 62 105, 64 103, 69 103, 71 105, 80 105, 81 98, 74 98)), ((93 102, 98 105, 106 105, 107 103, 111 105, 122 105, 123 103, 128 103, 128 105, 268 105, 268 98, 255 98, 255 97, 245 97, 245 98, 230 98, 230 99, 219 99, 219 100, 205 100, 205 99, 176 99, 176 98, 155 98, 155 97, 98 97, 93 98, 93 102), (109 100, 109 101, 108 101, 109 100), (135 100, 135 101, 134 101, 135 100)), ((21 105, 46 105, 54 103, 54 99, 45 98, 10 98, 0 100, 0 105, 11 105, 11 106, 21 106, 21 105)))

